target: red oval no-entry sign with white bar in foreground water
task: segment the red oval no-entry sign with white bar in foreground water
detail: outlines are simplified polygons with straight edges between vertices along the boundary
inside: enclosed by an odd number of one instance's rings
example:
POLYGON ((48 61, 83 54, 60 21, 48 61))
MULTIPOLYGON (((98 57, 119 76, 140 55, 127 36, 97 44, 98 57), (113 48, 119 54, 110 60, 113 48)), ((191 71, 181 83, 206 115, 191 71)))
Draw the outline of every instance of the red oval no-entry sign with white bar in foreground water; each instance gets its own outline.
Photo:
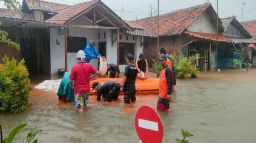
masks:
POLYGON ((149 106, 142 106, 135 116, 135 128, 142 143, 162 143, 163 126, 158 114, 149 106))

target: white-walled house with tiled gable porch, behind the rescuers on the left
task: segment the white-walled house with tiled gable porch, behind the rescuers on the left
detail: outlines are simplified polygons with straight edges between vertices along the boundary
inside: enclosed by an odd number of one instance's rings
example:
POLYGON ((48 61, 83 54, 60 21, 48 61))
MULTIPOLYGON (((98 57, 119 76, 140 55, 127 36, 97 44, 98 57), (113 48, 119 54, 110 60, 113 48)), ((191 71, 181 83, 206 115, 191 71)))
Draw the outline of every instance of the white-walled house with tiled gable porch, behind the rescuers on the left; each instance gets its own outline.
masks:
MULTIPOLYGON (((132 35, 134 29, 100 0, 75 5, 23 0, 22 13, 0 9, 0 21, 0 29, 7 31, 21 49, 19 52, 4 45, 0 58, 4 54, 24 58, 30 74, 71 70, 77 63, 76 53, 91 39, 107 62, 117 64, 120 71, 127 64, 125 55, 131 53, 136 58, 143 52, 142 36, 132 35)), ((98 60, 91 60, 91 64, 98 68, 98 60)))

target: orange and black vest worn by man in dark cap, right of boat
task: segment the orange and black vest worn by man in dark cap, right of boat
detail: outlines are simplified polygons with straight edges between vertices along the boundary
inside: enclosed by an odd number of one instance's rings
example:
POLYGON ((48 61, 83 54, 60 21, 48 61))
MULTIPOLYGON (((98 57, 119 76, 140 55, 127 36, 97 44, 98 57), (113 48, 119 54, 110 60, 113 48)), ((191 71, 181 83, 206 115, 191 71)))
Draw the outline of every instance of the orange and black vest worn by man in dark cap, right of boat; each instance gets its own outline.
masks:
POLYGON ((167 95, 172 93, 172 70, 168 65, 163 67, 160 73, 159 96, 167 99, 167 95))

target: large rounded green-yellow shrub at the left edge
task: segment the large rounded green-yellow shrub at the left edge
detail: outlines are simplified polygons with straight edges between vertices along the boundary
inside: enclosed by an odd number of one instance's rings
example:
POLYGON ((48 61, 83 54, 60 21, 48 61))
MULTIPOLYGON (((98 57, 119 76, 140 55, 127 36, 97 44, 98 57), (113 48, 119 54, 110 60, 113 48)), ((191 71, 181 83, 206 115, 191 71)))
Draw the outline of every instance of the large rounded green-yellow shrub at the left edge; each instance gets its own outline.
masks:
POLYGON ((24 59, 17 63, 5 55, 0 64, 0 111, 21 112, 27 109, 31 93, 29 73, 24 59))

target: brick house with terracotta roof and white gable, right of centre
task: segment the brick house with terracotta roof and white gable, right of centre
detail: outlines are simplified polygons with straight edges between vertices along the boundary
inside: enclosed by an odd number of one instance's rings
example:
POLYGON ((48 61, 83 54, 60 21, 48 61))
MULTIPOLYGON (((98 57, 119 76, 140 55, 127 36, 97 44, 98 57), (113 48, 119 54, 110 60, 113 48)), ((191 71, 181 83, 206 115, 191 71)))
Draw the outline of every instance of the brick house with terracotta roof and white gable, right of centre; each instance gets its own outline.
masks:
MULTIPOLYGON (((137 25, 136 27, 143 27, 131 34, 142 36, 147 32, 151 34, 143 38, 143 52, 148 59, 156 59, 156 53, 158 53, 156 51, 157 20, 157 16, 154 16, 130 21, 132 25, 137 25)), ((229 42, 222 32, 222 21, 209 3, 160 15, 160 47, 166 48, 168 54, 175 51, 180 59, 199 53, 203 58, 197 63, 202 70, 209 70, 216 65, 215 43, 229 42), (218 35, 216 34, 217 19, 218 35)), ((151 60, 148 61, 151 63, 151 60)))

